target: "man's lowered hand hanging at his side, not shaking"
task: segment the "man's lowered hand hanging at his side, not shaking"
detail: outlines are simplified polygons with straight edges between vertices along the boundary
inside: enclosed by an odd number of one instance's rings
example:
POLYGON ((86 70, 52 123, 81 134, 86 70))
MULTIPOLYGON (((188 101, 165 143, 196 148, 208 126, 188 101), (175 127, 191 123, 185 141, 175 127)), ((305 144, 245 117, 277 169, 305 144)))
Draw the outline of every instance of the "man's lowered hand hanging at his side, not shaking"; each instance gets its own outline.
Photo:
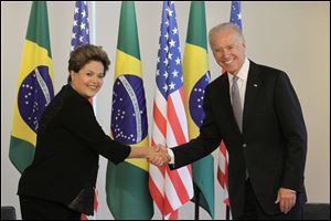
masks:
POLYGON ((288 213, 292 207, 296 204, 296 191, 287 189, 287 188, 279 188, 277 200, 275 203, 279 203, 279 209, 284 213, 288 213))

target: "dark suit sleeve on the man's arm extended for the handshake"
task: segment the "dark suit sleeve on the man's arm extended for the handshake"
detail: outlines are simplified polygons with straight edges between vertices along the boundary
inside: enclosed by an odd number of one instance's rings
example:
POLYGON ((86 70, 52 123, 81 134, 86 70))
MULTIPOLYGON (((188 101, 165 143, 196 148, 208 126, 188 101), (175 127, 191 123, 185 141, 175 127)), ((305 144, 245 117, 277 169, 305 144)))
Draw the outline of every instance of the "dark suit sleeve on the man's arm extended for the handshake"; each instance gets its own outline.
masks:
POLYGON ((217 148, 221 143, 222 135, 218 130, 214 113, 211 104, 211 93, 209 87, 205 91, 204 98, 204 119, 200 127, 200 135, 190 143, 172 148, 174 155, 174 165, 171 169, 177 169, 192 164, 217 148))

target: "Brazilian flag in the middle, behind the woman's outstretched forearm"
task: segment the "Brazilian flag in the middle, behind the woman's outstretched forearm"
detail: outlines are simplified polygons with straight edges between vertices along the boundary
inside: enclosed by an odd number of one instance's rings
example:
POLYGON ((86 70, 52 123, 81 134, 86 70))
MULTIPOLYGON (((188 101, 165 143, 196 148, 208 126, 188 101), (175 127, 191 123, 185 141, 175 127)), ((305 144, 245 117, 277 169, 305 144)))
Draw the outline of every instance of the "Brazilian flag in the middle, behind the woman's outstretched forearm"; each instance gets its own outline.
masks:
MULTIPOLYGON (((113 87, 111 137, 132 148, 146 148, 148 122, 134 1, 122 1, 113 87)), ((110 147, 111 148, 111 147, 110 147)), ((146 159, 108 161, 107 204, 116 220, 147 220, 153 215, 146 159)))

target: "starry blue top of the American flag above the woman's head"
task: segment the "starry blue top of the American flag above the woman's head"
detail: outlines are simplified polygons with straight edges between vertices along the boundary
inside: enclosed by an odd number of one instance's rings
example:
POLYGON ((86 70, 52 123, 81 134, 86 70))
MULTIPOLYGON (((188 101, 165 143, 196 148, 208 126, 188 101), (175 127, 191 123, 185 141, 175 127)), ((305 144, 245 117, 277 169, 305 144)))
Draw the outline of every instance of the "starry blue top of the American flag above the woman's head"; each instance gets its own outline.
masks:
POLYGON ((86 1, 76 1, 71 51, 89 43, 88 10, 86 1))

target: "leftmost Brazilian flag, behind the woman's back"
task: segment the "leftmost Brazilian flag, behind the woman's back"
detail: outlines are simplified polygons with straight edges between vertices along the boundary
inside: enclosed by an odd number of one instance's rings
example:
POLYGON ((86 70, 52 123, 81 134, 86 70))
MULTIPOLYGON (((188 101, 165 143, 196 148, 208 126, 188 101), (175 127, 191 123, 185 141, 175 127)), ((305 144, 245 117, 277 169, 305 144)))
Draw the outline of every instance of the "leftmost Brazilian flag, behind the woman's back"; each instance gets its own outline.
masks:
POLYGON ((40 117, 54 97, 47 6, 33 1, 18 78, 9 158, 22 172, 33 160, 40 117))

